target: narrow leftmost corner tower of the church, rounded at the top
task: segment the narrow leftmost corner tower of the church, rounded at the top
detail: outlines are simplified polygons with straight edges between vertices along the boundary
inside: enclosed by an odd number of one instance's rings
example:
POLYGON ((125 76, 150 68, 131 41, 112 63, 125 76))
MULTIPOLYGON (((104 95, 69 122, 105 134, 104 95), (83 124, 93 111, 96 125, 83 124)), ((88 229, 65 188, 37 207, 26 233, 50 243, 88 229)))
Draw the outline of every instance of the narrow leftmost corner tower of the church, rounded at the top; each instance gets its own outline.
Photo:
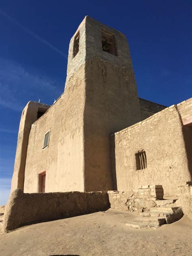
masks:
POLYGON ((38 109, 41 108, 42 110, 47 111, 49 107, 49 105, 30 101, 22 111, 17 138, 15 165, 11 181, 11 192, 16 188, 21 188, 23 190, 26 155, 31 125, 37 120, 38 109))

